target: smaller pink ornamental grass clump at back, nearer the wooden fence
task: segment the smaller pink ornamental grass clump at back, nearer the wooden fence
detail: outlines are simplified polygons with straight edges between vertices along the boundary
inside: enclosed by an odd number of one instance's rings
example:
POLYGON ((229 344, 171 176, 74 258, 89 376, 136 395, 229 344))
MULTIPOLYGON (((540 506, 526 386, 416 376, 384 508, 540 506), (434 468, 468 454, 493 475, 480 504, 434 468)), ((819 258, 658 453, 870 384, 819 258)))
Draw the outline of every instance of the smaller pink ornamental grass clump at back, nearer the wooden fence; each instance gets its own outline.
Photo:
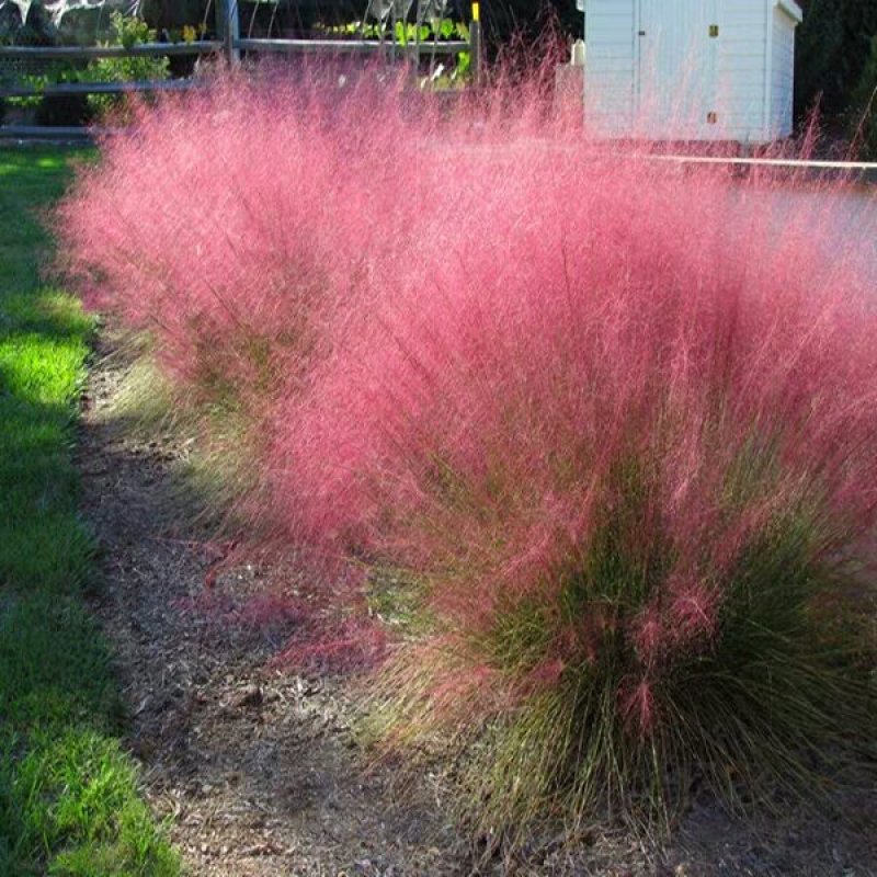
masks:
POLYGON ((241 512, 262 501, 273 400, 306 383, 413 209, 394 190, 399 83, 353 72, 228 76, 135 104, 58 212, 60 267, 168 385, 140 379, 135 399, 173 400, 200 435, 198 493, 241 512))

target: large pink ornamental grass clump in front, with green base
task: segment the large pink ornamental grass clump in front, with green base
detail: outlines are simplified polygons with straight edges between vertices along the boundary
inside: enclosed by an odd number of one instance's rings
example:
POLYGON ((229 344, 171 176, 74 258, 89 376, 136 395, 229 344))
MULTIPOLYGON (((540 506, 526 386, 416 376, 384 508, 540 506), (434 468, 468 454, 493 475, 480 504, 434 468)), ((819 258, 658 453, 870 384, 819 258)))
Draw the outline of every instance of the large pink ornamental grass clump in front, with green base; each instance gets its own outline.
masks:
POLYGON ((812 799, 875 727, 858 254, 770 182, 457 149, 453 240, 418 235, 276 423, 289 520, 415 607, 373 702, 385 751, 451 754, 466 816, 513 834, 664 821, 696 786, 812 799))

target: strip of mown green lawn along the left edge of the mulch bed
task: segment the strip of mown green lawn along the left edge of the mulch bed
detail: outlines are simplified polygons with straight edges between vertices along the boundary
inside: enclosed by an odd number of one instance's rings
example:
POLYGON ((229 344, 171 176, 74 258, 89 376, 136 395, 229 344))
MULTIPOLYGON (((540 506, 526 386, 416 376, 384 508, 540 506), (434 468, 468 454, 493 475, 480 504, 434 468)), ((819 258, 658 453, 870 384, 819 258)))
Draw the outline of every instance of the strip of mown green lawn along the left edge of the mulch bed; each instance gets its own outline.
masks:
POLYGON ((71 463, 91 321, 39 280, 72 153, 0 149, 0 877, 176 875, 116 734, 71 463))

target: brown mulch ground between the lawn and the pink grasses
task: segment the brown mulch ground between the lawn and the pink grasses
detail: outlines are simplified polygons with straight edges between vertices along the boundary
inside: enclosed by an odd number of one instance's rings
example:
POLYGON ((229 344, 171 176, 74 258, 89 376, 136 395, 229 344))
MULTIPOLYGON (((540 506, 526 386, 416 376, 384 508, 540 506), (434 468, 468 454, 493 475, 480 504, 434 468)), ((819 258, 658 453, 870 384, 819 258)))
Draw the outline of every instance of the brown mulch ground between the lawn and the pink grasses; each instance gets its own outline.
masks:
MULTIPOLYGON (((294 569, 227 570, 205 600, 215 549, 180 524, 169 489, 184 448, 135 441, 114 424, 124 371, 121 357, 104 355, 86 400, 84 513, 103 551, 95 605, 118 653, 126 743, 156 812, 173 817, 193 877, 511 873, 499 863, 476 870, 477 851, 443 819, 429 777, 402 802, 391 771, 363 768, 351 683, 271 669, 295 619, 254 623, 240 611, 294 569)), ((877 812, 875 797, 861 802, 863 819, 877 812)), ((660 856, 600 833, 574 854, 549 844, 514 872, 867 877, 877 875, 877 831, 873 818, 841 829, 791 813, 756 832, 705 805, 660 856)))

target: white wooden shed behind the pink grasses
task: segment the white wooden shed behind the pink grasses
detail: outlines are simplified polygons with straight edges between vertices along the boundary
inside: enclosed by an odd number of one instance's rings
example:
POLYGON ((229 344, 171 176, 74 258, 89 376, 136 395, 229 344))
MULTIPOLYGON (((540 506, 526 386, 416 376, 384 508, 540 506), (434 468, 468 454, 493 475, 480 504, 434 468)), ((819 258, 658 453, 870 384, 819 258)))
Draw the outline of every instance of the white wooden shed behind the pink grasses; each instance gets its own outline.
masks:
POLYGON ((767 143, 791 133, 795 0, 579 0, 584 112, 607 137, 767 143))

